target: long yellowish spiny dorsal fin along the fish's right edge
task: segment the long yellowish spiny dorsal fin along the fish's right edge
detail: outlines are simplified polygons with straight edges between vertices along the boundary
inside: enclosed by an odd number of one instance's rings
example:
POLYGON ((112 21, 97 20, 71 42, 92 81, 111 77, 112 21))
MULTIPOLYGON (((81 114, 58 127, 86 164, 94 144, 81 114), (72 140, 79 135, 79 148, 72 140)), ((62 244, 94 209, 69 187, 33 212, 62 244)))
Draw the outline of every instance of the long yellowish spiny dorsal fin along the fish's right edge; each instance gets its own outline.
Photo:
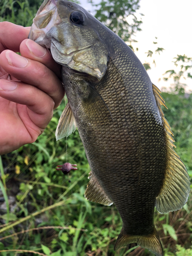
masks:
POLYGON ((166 107, 165 101, 160 95, 161 91, 154 86, 154 84, 153 91, 166 132, 167 164, 165 178, 160 193, 156 198, 157 210, 162 214, 165 214, 169 211, 179 210, 185 205, 189 196, 190 180, 185 165, 173 150, 173 147, 175 147, 175 140, 172 137, 173 132, 170 129, 167 120, 164 118, 161 109, 161 105, 166 107))

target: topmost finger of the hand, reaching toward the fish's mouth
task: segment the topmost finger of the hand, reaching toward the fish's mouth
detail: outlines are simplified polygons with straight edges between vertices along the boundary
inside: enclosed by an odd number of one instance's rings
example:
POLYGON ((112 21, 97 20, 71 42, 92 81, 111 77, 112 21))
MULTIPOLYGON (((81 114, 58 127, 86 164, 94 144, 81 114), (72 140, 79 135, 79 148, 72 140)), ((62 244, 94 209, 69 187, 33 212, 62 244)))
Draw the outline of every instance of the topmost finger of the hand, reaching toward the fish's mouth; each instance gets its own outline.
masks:
POLYGON ((20 43, 28 38, 30 28, 10 22, 0 22, 0 31, 0 53, 7 49, 19 52, 20 43))

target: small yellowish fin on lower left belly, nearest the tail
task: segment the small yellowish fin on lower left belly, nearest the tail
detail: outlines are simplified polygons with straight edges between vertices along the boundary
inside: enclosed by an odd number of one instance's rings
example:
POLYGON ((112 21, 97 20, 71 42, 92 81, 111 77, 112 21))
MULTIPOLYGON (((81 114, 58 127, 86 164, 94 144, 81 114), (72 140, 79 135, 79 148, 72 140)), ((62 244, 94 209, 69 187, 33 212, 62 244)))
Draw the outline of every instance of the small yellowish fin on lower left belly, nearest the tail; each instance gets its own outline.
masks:
POLYGON ((104 204, 104 205, 112 205, 113 202, 111 199, 105 194, 105 191, 100 186, 99 182, 97 181, 96 177, 90 173, 88 179, 90 182, 87 185, 86 193, 84 197, 91 202, 104 204))

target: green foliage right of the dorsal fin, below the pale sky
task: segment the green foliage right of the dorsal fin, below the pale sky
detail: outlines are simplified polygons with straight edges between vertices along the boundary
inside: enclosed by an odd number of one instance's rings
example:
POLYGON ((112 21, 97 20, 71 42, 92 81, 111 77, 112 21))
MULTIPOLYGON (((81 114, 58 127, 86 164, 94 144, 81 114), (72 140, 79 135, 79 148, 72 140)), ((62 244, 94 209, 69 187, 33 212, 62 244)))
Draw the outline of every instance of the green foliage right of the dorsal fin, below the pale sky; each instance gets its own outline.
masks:
POLYGON ((192 172, 192 94, 180 89, 177 94, 162 93, 168 110, 164 114, 176 140, 176 151, 185 163, 189 174, 192 172))

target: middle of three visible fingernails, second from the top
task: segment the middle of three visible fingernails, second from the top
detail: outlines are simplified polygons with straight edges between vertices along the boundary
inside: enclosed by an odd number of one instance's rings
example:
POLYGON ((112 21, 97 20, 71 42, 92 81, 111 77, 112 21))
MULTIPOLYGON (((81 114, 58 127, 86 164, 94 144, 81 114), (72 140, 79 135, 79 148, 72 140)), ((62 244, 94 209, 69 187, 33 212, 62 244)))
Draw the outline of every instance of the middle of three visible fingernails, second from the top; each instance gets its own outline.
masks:
POLYGON ((28 64, 28 60, 10 50, 6 51, 5 56, 9 65, 16 68, 25 68, 28 64))

